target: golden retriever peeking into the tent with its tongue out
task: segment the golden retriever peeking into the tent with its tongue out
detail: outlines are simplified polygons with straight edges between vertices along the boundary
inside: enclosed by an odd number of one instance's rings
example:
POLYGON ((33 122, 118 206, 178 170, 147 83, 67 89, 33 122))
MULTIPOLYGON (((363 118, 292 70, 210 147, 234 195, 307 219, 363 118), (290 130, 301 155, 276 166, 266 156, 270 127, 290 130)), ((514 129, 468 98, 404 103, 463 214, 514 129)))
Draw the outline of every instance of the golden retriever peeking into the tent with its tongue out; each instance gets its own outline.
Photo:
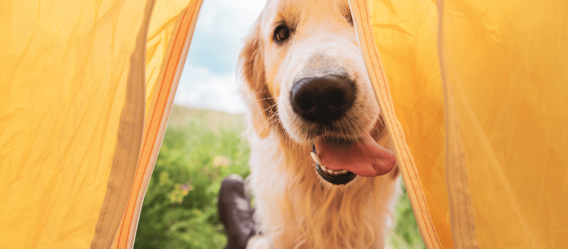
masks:
POLYGON ((269 0, 239 67, 260 231, 247 248, 383 248, 398 168, 348 0, 269 0))

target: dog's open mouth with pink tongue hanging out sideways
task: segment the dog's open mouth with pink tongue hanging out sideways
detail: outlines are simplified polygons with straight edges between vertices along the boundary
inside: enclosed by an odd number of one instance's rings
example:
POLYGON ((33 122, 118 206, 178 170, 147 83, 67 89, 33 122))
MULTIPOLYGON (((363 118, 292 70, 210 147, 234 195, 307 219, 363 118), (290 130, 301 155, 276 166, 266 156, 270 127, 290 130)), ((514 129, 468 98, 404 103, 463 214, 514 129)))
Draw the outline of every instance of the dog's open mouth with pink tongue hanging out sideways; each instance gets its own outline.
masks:
POLYGON ((333 141, 318 138, 312 144, 316 171, 327 182, 347 184, 357 175, 374 177, 394 168, 394 153, 377 144, 369 133, 356 141, 333 141))

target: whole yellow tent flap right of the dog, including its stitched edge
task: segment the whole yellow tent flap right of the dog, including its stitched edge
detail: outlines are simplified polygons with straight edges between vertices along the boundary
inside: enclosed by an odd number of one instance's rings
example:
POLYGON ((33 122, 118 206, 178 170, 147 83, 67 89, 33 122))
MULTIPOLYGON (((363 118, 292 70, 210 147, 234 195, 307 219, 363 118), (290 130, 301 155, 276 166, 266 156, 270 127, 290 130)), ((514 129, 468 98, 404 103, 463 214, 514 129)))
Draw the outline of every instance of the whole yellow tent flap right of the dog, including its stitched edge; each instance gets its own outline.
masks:
POLYGON ((566 2, 351 2, 425 245, 567 247, 566 2))

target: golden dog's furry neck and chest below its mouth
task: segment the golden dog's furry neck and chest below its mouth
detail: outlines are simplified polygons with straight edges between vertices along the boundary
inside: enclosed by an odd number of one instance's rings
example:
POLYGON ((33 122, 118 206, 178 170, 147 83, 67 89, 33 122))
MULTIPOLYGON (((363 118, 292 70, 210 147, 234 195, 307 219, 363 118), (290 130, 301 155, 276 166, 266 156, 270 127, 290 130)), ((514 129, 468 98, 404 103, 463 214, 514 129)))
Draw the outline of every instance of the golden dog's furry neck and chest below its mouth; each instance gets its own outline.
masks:
POLYGON ((332 186, 316 174, 311 147, 274 129, 250 141, 255 217, 274 248, 383 248, 394 220, 385 200, 398 189, 390 174, 332 186))

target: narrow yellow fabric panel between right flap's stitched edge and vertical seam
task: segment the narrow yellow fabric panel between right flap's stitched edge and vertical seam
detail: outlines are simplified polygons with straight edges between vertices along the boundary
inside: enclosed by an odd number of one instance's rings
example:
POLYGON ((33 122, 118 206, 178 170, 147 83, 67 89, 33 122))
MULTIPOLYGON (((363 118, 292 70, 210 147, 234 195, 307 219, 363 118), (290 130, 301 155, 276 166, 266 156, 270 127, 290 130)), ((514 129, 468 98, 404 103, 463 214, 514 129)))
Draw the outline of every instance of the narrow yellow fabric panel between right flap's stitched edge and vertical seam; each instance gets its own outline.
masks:
MULTIPOLYGON (((397 158, 399 167, 408 168, 401 172, 416 221, 428 248, 452 248, 444 175, 444 92, 438 63, 436 3, 412 0, 368 4, 374 45, 389 82, 382 94, 388 91, 391 95, 402 127, 391 138, 398 141, 404 137, 408 149, 400 149, 401 153, 411 154, 414 160, 412 163, 397 158)), ((377 89, 381 91, 381 87, 377 89)), ((389 108, 382 111, 383 115, 390 112, 389 108)))

